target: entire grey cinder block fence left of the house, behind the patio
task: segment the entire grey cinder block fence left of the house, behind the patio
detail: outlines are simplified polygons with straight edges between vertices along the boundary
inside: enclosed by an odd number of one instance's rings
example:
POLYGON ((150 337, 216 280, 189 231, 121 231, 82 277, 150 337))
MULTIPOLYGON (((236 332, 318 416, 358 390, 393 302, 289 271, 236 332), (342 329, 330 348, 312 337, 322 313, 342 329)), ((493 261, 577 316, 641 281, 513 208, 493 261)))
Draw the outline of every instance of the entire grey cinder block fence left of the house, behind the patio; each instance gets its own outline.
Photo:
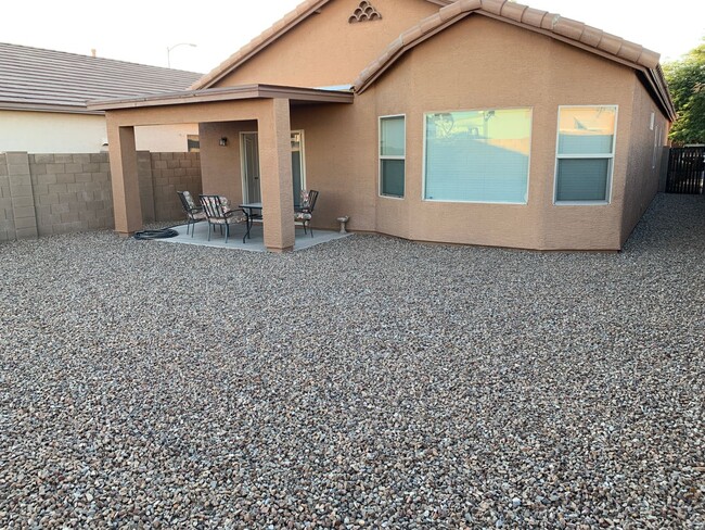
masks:
MULTIPOLYGON (((114 228, 107 153, 0 153, 0 241, 114 228)), ((177 190, 201 193, 198 153, 138 153, 145 223, 182 217, 177 190)))

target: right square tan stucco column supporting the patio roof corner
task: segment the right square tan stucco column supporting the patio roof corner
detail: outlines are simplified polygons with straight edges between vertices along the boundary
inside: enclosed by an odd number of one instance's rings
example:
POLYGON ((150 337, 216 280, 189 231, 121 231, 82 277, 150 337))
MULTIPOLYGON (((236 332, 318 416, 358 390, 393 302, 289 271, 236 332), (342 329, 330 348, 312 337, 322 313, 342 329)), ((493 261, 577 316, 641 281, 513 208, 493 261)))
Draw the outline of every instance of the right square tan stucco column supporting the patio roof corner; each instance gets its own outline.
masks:
POLYGON ((258 136, 265 247, 286 252, 294 249, 295 230, 289 100, 270 100, 259 116, 258 136))

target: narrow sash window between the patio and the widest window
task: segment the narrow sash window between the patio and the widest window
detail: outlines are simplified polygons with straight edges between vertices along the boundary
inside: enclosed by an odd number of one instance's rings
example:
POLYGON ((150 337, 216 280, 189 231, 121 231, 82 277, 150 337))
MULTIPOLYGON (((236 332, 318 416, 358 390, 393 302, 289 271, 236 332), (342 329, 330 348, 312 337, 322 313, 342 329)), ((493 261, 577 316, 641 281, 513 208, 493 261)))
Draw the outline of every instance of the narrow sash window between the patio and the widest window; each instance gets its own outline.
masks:
POLYGON ((403 197, 407 154, 405 116, 380 118, 380 194, 403 197))

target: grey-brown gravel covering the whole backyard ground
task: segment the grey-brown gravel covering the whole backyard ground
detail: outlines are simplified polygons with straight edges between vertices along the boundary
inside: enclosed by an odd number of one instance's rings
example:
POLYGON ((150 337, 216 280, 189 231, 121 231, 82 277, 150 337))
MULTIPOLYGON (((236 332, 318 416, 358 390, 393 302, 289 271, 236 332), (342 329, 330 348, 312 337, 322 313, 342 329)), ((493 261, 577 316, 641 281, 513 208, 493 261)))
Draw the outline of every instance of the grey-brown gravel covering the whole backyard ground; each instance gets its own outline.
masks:
POLYGON ((620 253, 0 244, 0 527, 705 528, 704 199, 620 253))

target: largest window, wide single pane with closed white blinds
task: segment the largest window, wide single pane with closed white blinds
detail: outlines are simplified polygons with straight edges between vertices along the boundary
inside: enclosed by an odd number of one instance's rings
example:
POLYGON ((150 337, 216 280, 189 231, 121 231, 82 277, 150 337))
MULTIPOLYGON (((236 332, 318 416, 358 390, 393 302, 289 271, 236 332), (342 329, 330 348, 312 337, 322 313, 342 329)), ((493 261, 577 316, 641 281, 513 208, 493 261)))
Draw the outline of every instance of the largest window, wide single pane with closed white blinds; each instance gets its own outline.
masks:
POLYGON ((426 114, 424 199, 526 204, 531 109, 426 114))

